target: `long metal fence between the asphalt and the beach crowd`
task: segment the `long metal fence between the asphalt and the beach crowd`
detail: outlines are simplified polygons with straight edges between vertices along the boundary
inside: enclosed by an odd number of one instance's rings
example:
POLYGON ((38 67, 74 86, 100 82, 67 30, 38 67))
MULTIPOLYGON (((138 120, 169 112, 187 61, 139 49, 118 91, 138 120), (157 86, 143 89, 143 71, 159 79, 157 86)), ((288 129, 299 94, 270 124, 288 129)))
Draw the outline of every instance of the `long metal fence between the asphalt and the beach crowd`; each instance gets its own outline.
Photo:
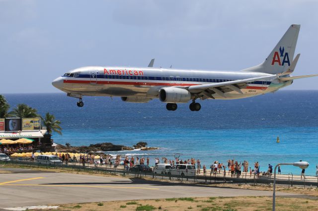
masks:
MULTIPOLYGON (((70 169, 70 170, 78 170, 78 171, 87 171, 87 172, 99 172, 99 173, 110 173, 110 174, 120 174, 123 176, 130 175, 134 177, 152 177, 158 179, 169 179, 169 180, 179 180, 179 181, 189 181, 189 182, 204 182, 204 183, 235 183, 235 184, 267 184, 271 187, 273 183, 273 176, 260 176, 260 178, 256 178, 256 175, 247 175, 247 173, 243 173, 239 175, 235 175, 235 177, 227 177, 227 172, 221 171, 217 174, 214 174, 214 171, 207 170, 203 175, 198 175, 196 172, 189 173, 192 175, 188 175, 188 171, 186 169, 179 169, 177 171, 178 174, 175 174, 176 170, 164 169, 164 173, 154 173, 154 172, 146 172, 146 171, 129 171, 129 169, 125 168, 117 168, 110 165, 103 164, 77 164, 75 162, 69 162, 68 164, 40 164, 37 161, 31 160, 23 160, 23 159, 11 159, 10 161, 0 161, 0 164, 11 164, 11 165, 23 165, 23 166, 32 166, 32 167, 44 167, 44 168, 54 168, 54 169, 70 169)), ((295 179, 295 175, 280 175, 280 178, 276 179, 276 184, 288 185, 288 187, 293 185, 301 185, 301 186, 317 186, 318 187, 318 177, 317 181, 309 181, 309 180, 299 180, 295 179), (282 179, 283 178, 283 179, 282 179)))

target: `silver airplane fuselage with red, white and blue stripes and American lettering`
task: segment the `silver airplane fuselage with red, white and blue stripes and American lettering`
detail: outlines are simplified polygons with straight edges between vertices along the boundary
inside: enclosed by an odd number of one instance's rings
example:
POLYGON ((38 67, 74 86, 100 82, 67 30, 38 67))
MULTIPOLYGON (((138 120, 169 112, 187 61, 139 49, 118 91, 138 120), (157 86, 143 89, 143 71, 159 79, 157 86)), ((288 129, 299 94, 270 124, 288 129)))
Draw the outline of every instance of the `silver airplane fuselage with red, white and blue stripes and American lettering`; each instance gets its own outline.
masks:
MULTIPOLYGON (((243 71, 208 71, 170 68, 138 67, 81 67, 57 78, 58 88, 66 93, 82 96, 119 96, 158 98, 162 87, 189 87, 200 84, 220 83, 232 80, 271 76, 267 73, 243 71)), ((243 94, 235 91, 214 94, 213 99, 247 98, 276 91, 290 85, 291 81, 279 80, 254 81, 241 89, 243 94)))

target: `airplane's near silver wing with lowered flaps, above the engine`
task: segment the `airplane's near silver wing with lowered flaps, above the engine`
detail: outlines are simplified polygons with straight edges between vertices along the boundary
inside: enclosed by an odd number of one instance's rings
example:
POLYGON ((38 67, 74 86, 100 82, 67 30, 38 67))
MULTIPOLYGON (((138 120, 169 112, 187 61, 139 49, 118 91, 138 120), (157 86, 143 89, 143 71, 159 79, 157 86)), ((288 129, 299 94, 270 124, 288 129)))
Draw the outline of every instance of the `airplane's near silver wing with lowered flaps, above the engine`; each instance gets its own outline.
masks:
POLYGON ((262 76, 262 77, 255 77, 255 78, 247 78, 247 79, 240 79, 234 81, 226 81, 220 83, 209 83, 209 84, 202 84, 202 85, 193 85, 189 86, 187 89, 190 93, 193 94, 202 94, 206 98, 213 98, 213 94, 218 94, 224 98, 224 93, 235 91, 239 94, 243 94, 240 89, 246 88, 247 83, 258 81, 258 80, 268 80, 276 78, 276 75, 270 76, 262 76))

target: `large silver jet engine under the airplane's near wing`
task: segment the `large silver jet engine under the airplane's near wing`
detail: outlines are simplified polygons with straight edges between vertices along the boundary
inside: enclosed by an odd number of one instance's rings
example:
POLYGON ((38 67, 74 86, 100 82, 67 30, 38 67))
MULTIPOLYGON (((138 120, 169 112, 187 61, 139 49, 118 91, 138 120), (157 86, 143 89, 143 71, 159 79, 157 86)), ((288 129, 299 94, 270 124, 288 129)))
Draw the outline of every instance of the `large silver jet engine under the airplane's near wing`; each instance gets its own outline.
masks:
POLYGON ((188 103, 191 100, 191 93, 186 89, 164 87, 159 91, 159 99, 164 103, 188 103))

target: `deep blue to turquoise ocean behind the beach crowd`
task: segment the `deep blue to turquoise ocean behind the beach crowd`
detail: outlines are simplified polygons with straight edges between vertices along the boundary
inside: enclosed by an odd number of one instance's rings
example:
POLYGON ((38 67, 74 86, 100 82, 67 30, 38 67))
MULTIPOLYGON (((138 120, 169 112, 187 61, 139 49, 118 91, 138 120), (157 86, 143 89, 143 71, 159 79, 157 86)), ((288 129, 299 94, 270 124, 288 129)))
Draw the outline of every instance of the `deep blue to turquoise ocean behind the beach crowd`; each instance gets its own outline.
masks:
MULTIPOLYGON (((120 98, 84 97, 64 93, 4 94, 12 107, 24 103, 44 116, 50 112, 61 120, 63 135, 53 134, 55 143, 73 146, 101 142, 132 146, 147 142, 155 151, 120 151, 110 154, 155 158, 200 159, 208 168, 214 160, 247 160, 253 166, 308 161, 306 174, 315 175, 318 164, 318 91, 278 91, 240 100, 205 100, 200 111, 178 104, 167 111, 165 104, 122 102, 120 98), (280 143, 276 143, 279 136, 280 143)), ((295 166, 282 166, 282 173, 300 174, 295 166)))

